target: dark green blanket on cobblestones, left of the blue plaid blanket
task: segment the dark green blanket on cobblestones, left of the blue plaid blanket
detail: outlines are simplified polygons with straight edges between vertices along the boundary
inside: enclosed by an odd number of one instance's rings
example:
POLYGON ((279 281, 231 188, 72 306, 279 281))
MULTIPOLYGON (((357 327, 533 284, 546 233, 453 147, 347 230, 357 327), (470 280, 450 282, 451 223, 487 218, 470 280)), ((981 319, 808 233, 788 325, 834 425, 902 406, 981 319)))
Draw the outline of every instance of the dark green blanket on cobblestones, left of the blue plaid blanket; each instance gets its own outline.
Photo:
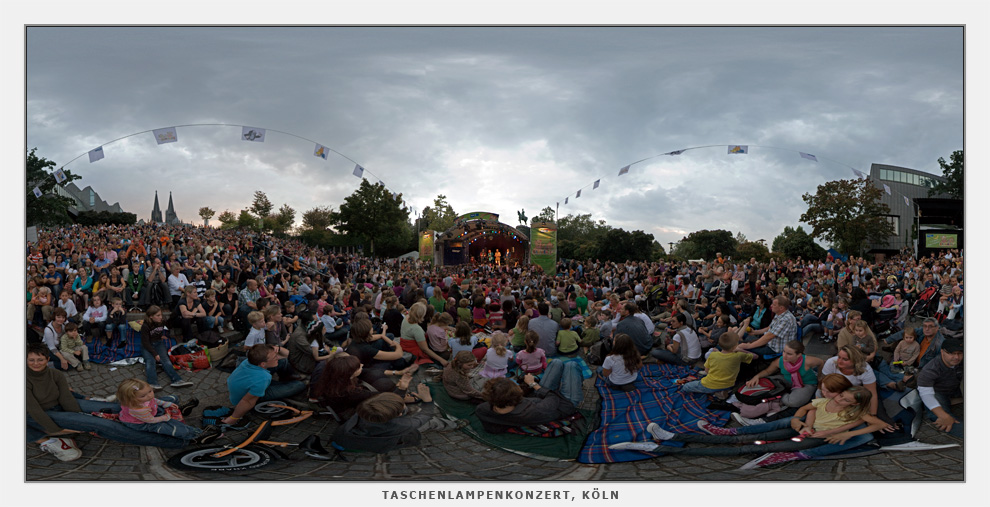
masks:
POLYGON ((584 419, 578 421, 575 428, 578 430, 572 434, 555 438, 540 438, 526 435, 516 435, 512 433, 492 434, 482 428, 481 420, 474 415, 477 405, 466 401, 455 400, 447 395, 447 390, 443 384, 428 382, 430 393, 433 395, 433 402, 445 414, 458 419, 467 419, 470 426, 463 430, 471 435, 475 440, 498 447, 509 452, 521 454, 536 459, 555 461, 561 459, 576 459, 581 448, 584 447, 584 440, 592 429, 598 427, 598 413, 593 410, 581 410, 584 419))

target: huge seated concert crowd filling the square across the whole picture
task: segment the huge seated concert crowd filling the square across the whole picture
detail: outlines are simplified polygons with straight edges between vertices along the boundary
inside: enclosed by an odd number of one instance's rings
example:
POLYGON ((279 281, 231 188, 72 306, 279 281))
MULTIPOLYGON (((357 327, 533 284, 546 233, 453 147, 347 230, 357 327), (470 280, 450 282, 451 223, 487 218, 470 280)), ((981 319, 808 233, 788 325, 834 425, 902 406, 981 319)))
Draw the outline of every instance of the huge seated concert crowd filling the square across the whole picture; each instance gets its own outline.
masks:
MULTIPOLYGON (((372 259, 238 230, 43 229, 27 255, 29 338, 38 336, 27 355, 28 439, 60 459, 78 457, 70 438, 78 431, 178 448, 215 439, 258 402, 280 399, 332 410, 344 421, 335 442, 382 452, 465 424, 438 417, 429 389, 411 386, 421 368, 451 398, 476 403, 485 430, 498 433, 572 416, 589 363, 607 386, 631 391, 647 362, 694 368, 685 395, 734 407, 738 423, 756 428, 702 422, 706 433, 802 435, 803 445, 761 464, 903 433, 925 413, 961 436, 951 400, 963 344, 940 328, 963 317, 962 266, 956 250, 879 261, 719 254, 709 262, 562 260, 550 275, 521 264, 372 259), (937 301, 934 316, 913 329, 909 309, 922 298, 937 301), (73 370, 92 368, 87 343, 122 342, 127 315, 137 312, 146 378, 122 385, 116 403, 69 389, 73 370), (236 331, 231 410, 220 428, 170 421, 177 400, 155 395, 157 363, 172 387, 192 386, 169 361, 166 314, 183 341, 236 331), (805 354, 806 336, 834 341, 836 355, 805 354), (787 394, 731 403, 730 389, 766 377, 787 394), (881 399, 910 389, 922 405, 887 414, 881 399), (101 410, 119 421, 89 415, 101 410)), ((653 441, 621 445, 648 452, 655 441, 688 438, 656 424, 643 430, 653 441)))

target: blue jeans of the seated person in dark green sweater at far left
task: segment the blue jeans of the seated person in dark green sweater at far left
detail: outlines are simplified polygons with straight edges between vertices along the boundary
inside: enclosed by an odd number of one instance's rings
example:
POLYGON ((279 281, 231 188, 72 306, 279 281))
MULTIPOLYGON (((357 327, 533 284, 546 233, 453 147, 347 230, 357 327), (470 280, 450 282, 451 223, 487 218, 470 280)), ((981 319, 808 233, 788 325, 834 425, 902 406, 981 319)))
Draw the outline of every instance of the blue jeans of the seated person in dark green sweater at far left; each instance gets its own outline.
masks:
MULTIPOLYGON (((46 410, 45 413, 62 429, 94 432, 100 437, 123 444, 150 445, 170 449, 180 449, 186 445, 184 441, 178 438, 138 431, 127 427, 123 423, 90 414, 90 412, 99 412, 104 408, 117 413, 120 412, 120 405, 91 400, 76 401, 79 403, 79 412, 65 412, 62 410, 62 407, 56 405, 46 410)), ((27 416, 28 442, 36 442, 44 437, 45 432, 41 425, 35 422, 31 416, 27 416)), ((72 435, 67 435, 67 437, 71 438, 72 435)))

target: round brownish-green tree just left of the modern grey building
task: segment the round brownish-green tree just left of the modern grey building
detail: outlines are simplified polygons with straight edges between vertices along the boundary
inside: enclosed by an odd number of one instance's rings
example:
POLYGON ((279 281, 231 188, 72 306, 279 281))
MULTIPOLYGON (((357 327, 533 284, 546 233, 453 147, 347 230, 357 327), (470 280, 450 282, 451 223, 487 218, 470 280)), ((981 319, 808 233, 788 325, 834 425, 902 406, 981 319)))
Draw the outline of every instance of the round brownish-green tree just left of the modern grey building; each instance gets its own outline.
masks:
POLYGON ((867 241, 884 243, 894 234, 882 192, 869 179, 826 182, 814 195, 801 196, 808 211, 800 220, 812 227, 812 237, 836 245, 842 253, 862 255, 867 241))

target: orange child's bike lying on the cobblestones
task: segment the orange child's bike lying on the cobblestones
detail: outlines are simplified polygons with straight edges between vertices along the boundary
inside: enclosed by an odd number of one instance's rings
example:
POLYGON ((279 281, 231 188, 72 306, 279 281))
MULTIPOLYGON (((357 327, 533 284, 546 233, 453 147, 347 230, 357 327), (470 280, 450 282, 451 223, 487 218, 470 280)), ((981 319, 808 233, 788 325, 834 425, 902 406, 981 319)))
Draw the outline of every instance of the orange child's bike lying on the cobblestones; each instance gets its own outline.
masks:
MULTIPOLYGON (((273 461, 288 459, 287 453, 279 451, 290 446, 304 450, 311 458, 329 461, 333 455, 320 444, 318 435, 309 435, 302 442, 293 444, 268 440, 277 426, 296 424, 309 419, 314 414, 324 412, 299 410, 280 401, 258 403, 254 413, 263 420, 250 435, 234 445, 209 445, 186 449, 167 460, 169 466, 180 470, 236 472, 254 470, 268 466, 273 461)), ((291 452, 291 451, 289 451, 291 452)))

